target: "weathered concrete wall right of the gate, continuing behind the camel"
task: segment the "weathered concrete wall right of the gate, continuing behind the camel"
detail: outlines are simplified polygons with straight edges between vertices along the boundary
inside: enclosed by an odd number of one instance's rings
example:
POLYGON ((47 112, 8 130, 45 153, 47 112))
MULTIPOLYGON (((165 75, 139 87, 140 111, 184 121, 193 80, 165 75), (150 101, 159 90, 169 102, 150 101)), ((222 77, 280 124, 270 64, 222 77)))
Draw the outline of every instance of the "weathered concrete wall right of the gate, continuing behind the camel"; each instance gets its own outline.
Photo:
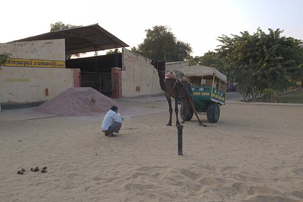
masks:
MULTIPOLYGON (((180 69, 188 66, 188 62, 167 63, 166 69, 180 69)), ((126 48, 122 48, 122 96, 149 96, 153 84, 153 94, 162 94, 158 73, 150 65, 150 60, 126 48), (154 74, 154 79, 153 79, 154 74)))

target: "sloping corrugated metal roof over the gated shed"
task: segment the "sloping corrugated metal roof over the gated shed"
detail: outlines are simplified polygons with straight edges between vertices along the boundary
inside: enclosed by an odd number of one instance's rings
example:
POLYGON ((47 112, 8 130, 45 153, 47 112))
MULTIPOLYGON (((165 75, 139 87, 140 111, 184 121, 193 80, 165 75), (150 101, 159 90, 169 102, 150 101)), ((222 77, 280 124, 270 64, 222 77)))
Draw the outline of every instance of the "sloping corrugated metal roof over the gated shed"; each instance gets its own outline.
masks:
POLYGON ((48 32, 16 41, 34 41, 65 38, 65 53, 77 54, 128 47, 122 40, 98 24, 48 32))

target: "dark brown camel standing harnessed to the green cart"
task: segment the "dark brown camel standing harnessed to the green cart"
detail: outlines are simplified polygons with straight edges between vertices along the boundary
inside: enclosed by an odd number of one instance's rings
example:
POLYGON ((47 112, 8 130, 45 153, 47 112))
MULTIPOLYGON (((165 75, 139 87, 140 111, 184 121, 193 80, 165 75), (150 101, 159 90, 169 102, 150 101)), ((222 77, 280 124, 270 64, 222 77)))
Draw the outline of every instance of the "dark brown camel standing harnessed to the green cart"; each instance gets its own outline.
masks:
POLYGON ((182 120, 182 124, 185 123, 186 117, 189 112, 189 104, 191 105, 193 112, 195 116, 198 119, 199 125, 200 126, 206 126, 204 125, 201 120, 199 119, 195 105, 191 97, 187 94, 185 87, 189 92, 192 92, 191 90, 191 84, 188 81, 183 81, 182 85, 180 82, 177 82, 175 79, 171 78, 165 78, 165 62, 164 61, 156 61, 152 60, 150 62, 151 65, 154 66, 154 68, 157 70, 158 75, 159 75, 159 82, 160 82, 160 87, 164 91, 168 105, 169 105, 169 122, 166 124, 167 126, 172 126, 172 113, 173 113, 173 108, 172 108, 172 100, 171 97, 175 98, 175 113, 176 113, 176 126, 180 125, 179 119, 178 119, 178 98, 182 98, 183 103, 185 105, 186 109, 186 115, 184 119, 182 120))

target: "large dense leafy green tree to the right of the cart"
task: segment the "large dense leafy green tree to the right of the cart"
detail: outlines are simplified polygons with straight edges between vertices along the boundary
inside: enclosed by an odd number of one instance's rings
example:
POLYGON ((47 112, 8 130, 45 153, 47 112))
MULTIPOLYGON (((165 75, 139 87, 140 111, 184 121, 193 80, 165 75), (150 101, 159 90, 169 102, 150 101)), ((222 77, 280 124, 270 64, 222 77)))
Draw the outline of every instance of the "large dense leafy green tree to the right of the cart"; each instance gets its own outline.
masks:
POLYGON ((228 37, 222 35, 218 57, 223 61, 229 80, 238 82, 238 87, 273 89, 280 84, 286 87, 289 79, 303 74, 302 41, 281 36, 280 29, 269 29, 265 33, 260 28, 250 35, 247 31, 228 37))

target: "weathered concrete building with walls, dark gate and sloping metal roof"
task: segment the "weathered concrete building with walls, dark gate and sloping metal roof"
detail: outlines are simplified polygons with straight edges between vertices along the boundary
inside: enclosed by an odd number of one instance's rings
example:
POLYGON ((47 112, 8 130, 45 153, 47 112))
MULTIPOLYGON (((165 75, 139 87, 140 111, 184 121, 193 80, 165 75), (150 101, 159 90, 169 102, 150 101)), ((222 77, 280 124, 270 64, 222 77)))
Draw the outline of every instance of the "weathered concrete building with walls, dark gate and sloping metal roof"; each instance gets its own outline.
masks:
MULTIPOLYGON (((0 72, 0 105, 3 109, 35 106, 80 86, 112 98, 148 96, 151 90, 162 94, 150 60, 127 46, 98 24, 0 43, 0 53, 12 54, 0 72), (70 54, 120 47, 122 53, 66 59, 70 54)), ((168 63, 167 69, 184 66, 188 63, 168 63)))

